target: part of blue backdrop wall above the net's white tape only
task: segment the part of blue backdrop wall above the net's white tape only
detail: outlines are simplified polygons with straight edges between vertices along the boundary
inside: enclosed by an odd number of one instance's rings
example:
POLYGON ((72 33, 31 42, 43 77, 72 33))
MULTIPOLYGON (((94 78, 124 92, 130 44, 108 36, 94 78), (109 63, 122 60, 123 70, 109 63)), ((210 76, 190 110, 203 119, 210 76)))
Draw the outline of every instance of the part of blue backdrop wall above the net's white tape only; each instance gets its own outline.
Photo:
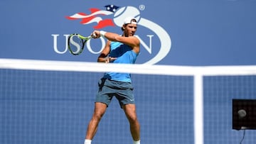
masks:
POLYGON ((100 40, 91 40, 82 55, 74 57, 66 51, 65 35, 90 35, 94 28, 121 33, 122 17, 132 15, 137 16, 137 35, 144 42, 138 63, 154 59, 151 64, 255 65, 255 6, 255 0, 4 0, 0 1, 0 57, 95 62, 100 40), (99 21, 68 18, 75 13, 95 14, 92 9, 102 12, 108 5, 119 8, 93 16, 112 25, 100 28, 95 27, 99 21))

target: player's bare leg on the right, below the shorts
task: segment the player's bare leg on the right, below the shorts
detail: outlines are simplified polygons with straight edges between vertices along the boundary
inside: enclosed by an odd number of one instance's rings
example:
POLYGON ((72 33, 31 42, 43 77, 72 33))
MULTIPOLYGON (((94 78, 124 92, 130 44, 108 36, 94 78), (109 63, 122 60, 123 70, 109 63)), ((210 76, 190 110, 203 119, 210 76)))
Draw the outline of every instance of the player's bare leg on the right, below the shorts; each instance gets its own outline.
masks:
POLYGON ((135 104, 125 104, 123 105, 124 113, 128 118, 129 125, 130 125, 130 131, 132 134, 132 138, 134 142, 138 142, 140 140, 140 135, 139 135, 139 121, 137 119, 137 114, 136 114, 136 106, 135 104))

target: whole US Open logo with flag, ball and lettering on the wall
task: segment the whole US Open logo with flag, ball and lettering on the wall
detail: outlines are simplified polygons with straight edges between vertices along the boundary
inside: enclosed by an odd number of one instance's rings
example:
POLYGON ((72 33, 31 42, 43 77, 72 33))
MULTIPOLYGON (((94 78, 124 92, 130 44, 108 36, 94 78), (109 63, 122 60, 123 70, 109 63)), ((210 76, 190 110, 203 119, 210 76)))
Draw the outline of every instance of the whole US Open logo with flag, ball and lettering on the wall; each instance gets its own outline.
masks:
MULTIPOLYGON (((144 64, 154 65, 157 62, 160 62, 161 60, 166 57, 166 55, 171 50, 171 38, 169 36, 169 33, 167 33, 164 28, 159 26, 157 23, 154 23, 153 21, 150 21, 147 18, 143 18, 140 14, 139 10, 144 10, 144 5, 139 6, 139 9, 137 9, 134 6, 114 6, 114 5, 107 5, 105 6, 105 10, 102 9, 90 9, 90 14, 86 13, 75 13, 72 16, 66 16, 70 21, 80 21, 80 24, 82 25, 92 25, 92 23, 96 23, 95 26, 92 28, 95 29, 102 29, 108 26, 119 26, 122 27, 124 18, 127 18, 128 16, 133 16, 137 19, 137 25, 139 28, 143 27, 148 32, 144 32, 145 35, 135 35, 137 38, 139 38, 141 42, 141 50, 144 49, 146 53, 143 53, 144 57, 151 57, 149 60, 145 60, 144 64), (108 18, 105 18, 107 16, 108 18), (146 33, 154 33, 153 34, 146 34, 146 33), (157 37, 157 38, 155 38, 157 37), (154 43, 157 43, 157 45, 154 45, 154 43), (157 50, 157 52, 156 52, 157 50), (147 56, 146 56, 147 55, 147 56)), ((66 40, 66 46, 64 50, 58 49, 58 36, 59 34, 52 34, 53 36, 53 49, 58 54, 64 54, 65 52, 68 52, 68 35, 63 35, 66 40)), ((90 45, 90 42, 86 43, 87 50, 92 54, 99 54, 101 50, 103 50, 106 40, 104 38, 100 38, 102 48, 100 50, 93 50, 93 48, 90 45)))

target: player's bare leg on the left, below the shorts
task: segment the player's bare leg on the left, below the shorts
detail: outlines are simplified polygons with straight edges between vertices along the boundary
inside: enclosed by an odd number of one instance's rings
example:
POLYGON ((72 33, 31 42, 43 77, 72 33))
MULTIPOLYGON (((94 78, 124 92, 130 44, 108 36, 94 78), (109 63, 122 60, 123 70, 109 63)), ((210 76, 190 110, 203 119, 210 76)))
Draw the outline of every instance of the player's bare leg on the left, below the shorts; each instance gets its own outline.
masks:
POLYGON ((92 115, 92 119, 90 120, 90 122, 87 126, 85 141, 90 141, 95 136, 95 134, 97 132, 97 126, 100 123, 100 119, 104 115, 106 109, 107 109, 106 104, 103 104, 100 102, 95 102, 95 110, 92 115))

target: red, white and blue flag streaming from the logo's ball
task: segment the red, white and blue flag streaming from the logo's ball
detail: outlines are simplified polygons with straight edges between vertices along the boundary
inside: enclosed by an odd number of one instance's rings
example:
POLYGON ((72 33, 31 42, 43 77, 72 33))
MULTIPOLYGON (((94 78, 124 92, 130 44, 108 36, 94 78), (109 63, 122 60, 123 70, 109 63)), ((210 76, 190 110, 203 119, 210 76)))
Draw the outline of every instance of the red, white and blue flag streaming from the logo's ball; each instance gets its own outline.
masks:
POLYGON ((78 20, 80 19, 80 23, 82 25, 87 25, 90 23, 97 23, 96 26, 93 26, 95 29, 104 28, 106 26, 115 26, 112 19, 105 18, 103 19, 101 16, 112 15, 115 11, 119 9, 119 6, 107 5, 105 6, 105 10, 92 8, 90 9, 90 14, 86 13, 75 13, 73 16, 66 16, 68 20, 78 20))

